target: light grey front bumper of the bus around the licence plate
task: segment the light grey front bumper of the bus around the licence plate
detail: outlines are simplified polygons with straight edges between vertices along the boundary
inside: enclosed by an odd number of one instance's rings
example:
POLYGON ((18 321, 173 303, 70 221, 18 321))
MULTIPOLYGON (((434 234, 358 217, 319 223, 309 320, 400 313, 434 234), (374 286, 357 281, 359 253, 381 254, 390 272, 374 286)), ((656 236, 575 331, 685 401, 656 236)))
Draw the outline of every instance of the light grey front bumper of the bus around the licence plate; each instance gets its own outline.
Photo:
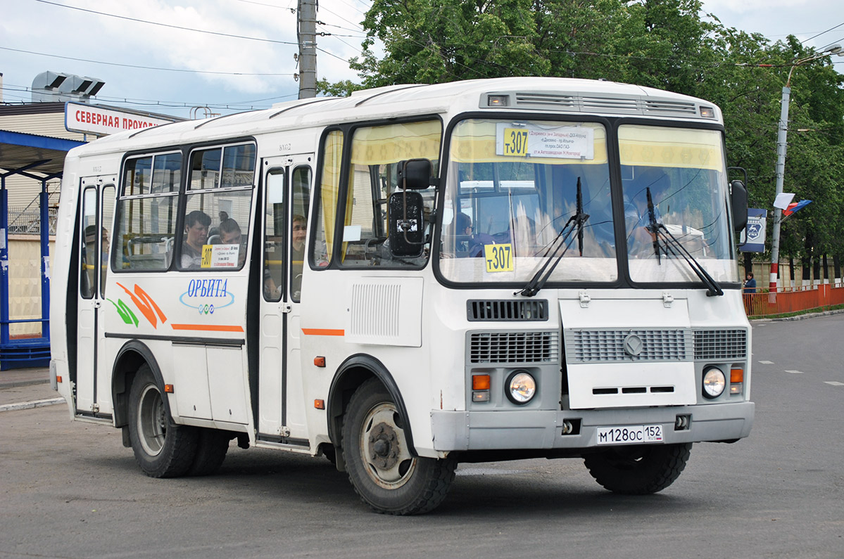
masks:
POLYGON ((736 402, 710 406, 667 406, 603 410, 431 411, 434 449, 587 449, 598 446, 598 427, 662 425, 664 443, 729 441, 747 437, 755 404, 736 402), (689 426, 675 430, 677 416, 689 426), (565 420, 580 420, 577 434, 563 434, 565 420))

